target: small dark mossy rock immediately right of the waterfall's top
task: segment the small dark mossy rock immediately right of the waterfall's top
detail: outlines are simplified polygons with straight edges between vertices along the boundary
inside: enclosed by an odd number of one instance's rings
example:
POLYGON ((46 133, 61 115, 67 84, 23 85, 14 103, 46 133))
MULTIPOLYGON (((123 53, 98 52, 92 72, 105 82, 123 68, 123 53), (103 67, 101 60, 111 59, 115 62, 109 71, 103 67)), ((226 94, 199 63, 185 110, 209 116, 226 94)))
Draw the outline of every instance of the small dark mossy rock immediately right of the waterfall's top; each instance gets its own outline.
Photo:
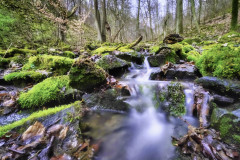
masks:
POLYGON ((164 65, 166 62, 166 55, 164 54, 157 54, 155 56, 149 56, 148 62, 151 67, 159 67, 161 65, 164 65))

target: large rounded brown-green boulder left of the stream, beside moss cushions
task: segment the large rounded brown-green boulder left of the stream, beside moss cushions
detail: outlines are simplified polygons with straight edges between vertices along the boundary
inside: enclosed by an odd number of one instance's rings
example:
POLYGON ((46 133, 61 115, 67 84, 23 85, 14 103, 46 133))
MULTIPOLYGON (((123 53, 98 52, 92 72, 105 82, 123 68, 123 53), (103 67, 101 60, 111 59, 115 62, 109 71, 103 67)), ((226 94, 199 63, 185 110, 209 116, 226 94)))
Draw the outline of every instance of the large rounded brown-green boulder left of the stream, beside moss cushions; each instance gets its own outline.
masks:
POLYGON ((106 72, 90 59, 77 59, 70 70, 70 86, 80 90, 92 90, 106 82, 106 72))

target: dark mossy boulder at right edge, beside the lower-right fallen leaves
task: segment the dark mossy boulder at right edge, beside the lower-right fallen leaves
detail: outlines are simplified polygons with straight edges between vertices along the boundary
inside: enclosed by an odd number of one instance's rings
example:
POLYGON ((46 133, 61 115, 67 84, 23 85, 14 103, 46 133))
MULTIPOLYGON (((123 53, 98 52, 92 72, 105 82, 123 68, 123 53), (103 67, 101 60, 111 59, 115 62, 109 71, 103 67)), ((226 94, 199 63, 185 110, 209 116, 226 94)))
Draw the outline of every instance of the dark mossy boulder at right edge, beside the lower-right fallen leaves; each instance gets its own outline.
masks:
POLYGON ((229 112, 214 108, 211 115, 211 126, 220 132, 221 138, 230 144, 240 147, 240 109, 229 112))

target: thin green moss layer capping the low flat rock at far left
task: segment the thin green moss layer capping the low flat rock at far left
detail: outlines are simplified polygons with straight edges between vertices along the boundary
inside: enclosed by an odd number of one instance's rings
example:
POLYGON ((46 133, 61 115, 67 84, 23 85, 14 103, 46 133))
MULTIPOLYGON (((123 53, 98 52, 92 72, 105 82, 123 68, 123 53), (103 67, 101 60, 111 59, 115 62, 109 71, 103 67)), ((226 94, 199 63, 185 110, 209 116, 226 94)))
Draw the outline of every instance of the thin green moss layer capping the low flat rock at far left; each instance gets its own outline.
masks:
POLYGON ((44 78, 46 78, 46 75, 36 71, 13 72, 4 76, 5 81, 11 81, 11 82, 18 82, 22 80, 40 82, 44 78))

